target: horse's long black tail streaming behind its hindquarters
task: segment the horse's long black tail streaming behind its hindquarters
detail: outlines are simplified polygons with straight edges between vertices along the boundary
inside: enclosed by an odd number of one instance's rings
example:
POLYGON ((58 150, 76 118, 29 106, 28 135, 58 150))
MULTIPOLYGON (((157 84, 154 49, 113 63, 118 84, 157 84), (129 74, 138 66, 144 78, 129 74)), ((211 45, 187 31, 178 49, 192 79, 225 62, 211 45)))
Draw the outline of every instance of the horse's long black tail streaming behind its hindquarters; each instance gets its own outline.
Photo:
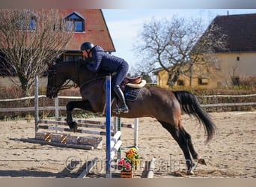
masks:
POLYGON ((201 108, 198 99, 189 91, 174 91, 174 95, 186 114, 195 116, 200 123, 203 123, 204 131, 207 135, 205 143, 207 144, 216 133, 216 125, 213 123, 209 114, 201 108))

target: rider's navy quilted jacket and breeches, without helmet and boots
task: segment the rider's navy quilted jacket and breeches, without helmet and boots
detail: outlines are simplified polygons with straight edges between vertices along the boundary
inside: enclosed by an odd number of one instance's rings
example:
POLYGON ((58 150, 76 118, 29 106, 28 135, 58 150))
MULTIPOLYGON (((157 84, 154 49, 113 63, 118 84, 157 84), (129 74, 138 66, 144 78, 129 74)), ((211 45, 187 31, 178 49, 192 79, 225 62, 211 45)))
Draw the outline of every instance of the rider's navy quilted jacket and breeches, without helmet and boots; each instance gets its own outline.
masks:
POLYGON ((94 46, 94 48, 91 49, 91 53, 92 61, 86 64, 88 70, 97 72, 103 69, 109 73, 116 73, 115 77, 112 79, 112 88, 114 88, 115 85, 121 85, 129 69, 127 61, 124 61, 123 58, 109 55, 104 52, 101 46, 94 46))

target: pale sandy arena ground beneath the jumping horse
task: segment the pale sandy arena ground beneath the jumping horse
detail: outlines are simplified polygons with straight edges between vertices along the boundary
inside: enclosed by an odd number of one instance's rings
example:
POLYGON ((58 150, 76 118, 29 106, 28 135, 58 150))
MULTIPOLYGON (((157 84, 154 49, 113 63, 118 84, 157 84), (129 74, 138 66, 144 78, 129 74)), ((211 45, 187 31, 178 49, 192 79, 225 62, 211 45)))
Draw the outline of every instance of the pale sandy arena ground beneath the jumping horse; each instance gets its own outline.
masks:
MULTIPOLYGON (((256 177, 256 111, 210 113, 219 128, 218 135, 204 145, 204 128, 187 115, 182 116, 183 126, 192 135, 195 149, 207 166, 196 165, 194 175, 186 175, 183 153, 177 143, 150 117, 139 119, 138 154, 141 165, 135 171, 140 178, 144 163, 156 158, 154 178, 252 178, 256 177)), ((99 118, 94 120, 104 120, 99 118)), ((122 119, 122 123, 133 123, 133 119, 122 119)), ((78 150, 52 147, 19 141, 34 138, 34 120, 1 121, 0 177, 78 177, 86 161, 97 157, 99 161, 88 177, 105 177, 106 139, 103 149, 78 150), (67 169, 70 160, 77 165, 67 169)), ((133 129, 122 128, 122 156, 133 145, 133 129)), ((113 169, 113 177, 120 171, 113 169)))

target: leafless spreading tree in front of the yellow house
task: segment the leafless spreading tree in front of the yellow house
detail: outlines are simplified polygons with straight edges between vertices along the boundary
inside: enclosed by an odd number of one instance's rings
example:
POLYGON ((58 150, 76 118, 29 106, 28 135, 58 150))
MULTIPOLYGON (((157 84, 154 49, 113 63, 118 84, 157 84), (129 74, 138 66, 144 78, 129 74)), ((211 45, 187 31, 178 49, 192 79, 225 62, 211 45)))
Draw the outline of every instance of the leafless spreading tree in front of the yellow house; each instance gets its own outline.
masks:
POLYGON ((162 68, 168 72, 167 84, 174 85, 180 74, 192 79, 194 64, 204 69, 216 66, 213 53, 225 45, 220 28, 211 24, 204 31, 201 19, 152 19, 138 34, 135 51, 144 63, 137 70, 149 73, 162 68))

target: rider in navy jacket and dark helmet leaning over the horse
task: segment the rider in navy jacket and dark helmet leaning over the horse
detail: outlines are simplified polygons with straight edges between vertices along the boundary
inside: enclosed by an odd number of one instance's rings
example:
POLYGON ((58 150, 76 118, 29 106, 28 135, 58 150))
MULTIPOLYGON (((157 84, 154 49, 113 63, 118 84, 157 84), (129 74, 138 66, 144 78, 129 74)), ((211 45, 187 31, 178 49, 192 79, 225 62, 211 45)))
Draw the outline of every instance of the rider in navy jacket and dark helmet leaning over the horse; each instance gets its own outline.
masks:
POLYGON ((81 45, 82 55, 86 59, 86 67, 92 72, 97 72, 100 68, 109 73, 116 73, 112 79, 112 89, 118 96, 121 102, 121 107, 118 111, 128 113, 129 108, 125 102, 124 93, 121 91, 120 85, 127 75, 129 65, 123 58, 118 58, 114 55, 109 55, 104 52, 101 46, 94 46, 91 42, 85 42, 81 45))

